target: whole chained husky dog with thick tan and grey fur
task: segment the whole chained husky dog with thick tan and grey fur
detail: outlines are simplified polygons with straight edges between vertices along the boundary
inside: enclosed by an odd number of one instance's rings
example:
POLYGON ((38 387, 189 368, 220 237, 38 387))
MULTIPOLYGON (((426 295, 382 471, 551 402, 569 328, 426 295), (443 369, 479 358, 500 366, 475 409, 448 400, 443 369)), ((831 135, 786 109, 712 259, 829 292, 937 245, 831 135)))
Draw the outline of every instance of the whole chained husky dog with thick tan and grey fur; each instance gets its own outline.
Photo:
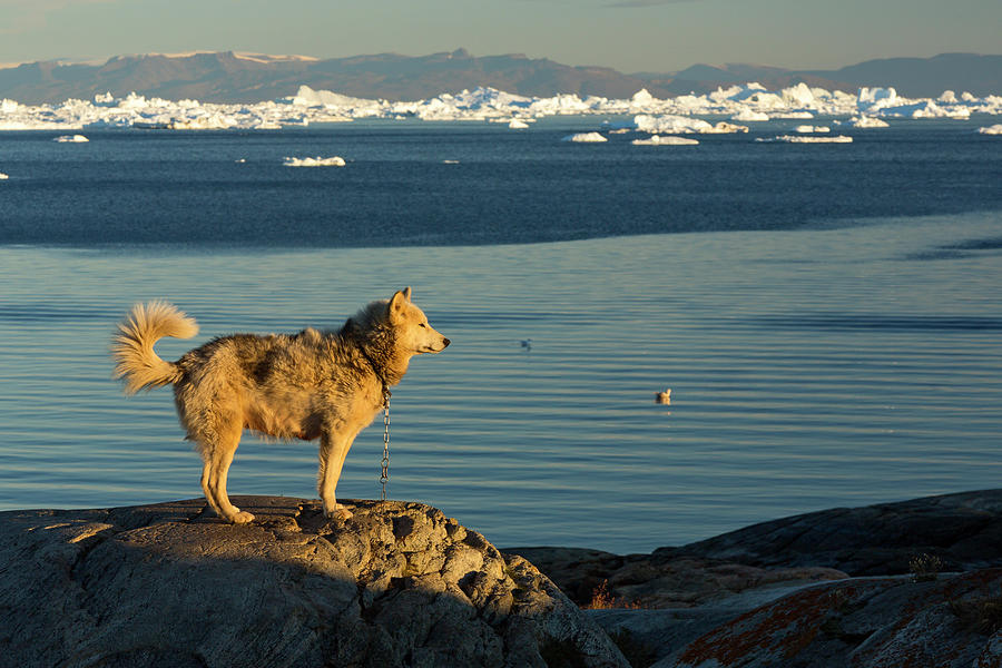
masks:
POLYGON ((154 352, 164 336, 197 333, 195 321, 170 304, 137 304, 112 340, 115 377, 125 380, 126 394, 174 385, 181 426, 205 463, 205 498, 216 514, 235 524, 254 519, 226 495, 226 474, 245 429, 278 439, 320 438, 317 488, 324 514, 350 518, 334 488, 352 442, 385 405, 411 357, 449 345, 411 302, 410 287, 371 303, 337 332, 234 334, 188 351, 177 362, 154 352))

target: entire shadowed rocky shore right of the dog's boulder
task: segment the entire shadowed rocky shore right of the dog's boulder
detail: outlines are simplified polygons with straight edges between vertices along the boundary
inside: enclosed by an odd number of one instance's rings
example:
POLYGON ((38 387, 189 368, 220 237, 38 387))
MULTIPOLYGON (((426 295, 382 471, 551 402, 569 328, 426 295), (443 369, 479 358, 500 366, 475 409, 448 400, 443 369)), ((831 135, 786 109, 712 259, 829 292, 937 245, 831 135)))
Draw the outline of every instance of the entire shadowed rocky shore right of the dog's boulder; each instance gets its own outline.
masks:
POLYGON ((1002 668, 1002 490, 807 513, 650 554, 513 551, 605 608, 588 615, 635 668, 1002 668))

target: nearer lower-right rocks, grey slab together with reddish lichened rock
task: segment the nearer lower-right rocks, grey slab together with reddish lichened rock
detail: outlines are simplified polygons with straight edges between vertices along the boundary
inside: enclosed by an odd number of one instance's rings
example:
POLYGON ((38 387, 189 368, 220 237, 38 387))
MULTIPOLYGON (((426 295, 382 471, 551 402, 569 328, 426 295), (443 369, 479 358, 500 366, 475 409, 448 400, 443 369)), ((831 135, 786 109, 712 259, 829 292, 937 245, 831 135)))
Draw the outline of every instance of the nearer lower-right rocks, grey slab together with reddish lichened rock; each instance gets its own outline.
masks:
POLYGON ((749 593, 697 608, 589 615, 635 668, 1002 666, 1002 569, 749 593))

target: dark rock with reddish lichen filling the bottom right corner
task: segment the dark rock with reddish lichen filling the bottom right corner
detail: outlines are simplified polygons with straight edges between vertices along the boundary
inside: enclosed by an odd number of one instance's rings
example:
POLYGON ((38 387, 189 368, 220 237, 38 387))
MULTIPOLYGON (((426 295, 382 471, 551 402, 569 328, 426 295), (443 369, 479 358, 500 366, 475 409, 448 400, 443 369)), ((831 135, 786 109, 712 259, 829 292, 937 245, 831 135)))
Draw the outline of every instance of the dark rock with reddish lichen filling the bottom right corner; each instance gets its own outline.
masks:
POLYGON ((825 582, 740 615, 654 666, 998 666, 1000 588, 1000 569, 825 582))

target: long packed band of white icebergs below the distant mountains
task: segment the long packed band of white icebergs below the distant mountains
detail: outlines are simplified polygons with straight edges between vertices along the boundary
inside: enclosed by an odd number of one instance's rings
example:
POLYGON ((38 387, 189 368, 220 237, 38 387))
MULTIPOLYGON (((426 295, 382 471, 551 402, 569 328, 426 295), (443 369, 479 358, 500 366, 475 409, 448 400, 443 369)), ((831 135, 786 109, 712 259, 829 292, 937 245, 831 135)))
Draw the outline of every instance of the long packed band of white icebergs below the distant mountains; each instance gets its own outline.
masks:
MULTIPOLYGON (((861 88, 856 95, 797 84, 768 90, 760 84, 720 87, 706 95, 659 99, 641 89, 626 99, 561 94, 552 97, 512 95, 480 87, 443 92, 413 101, 363 99, 299 86, 295 95, 254 104, 209 104, 164 100, 130 94, 118 98, 96 95, 89 100, 21 105, 0 100, 0 130, 71 131, 89 128, 150 130, 284 129, 362 118, 492 121, 520 127, 551 116, 628 116, 631 129, 649 132, 734 132, 745 122, 777 118, 834 117, 858 122, 880 118, 969 118, 972 114, 1002 115, 1002 96, 975 97, 944 91, 937 98, 907 99, 894 88, 861 88), (706 120, 698 117, 710 117, 706 120), (646 120, 645 120, 646 119, 646 120)), ((856 127, 870 127, 857 125, 856 127)), ((611 129, 611 128, 610 128, 611 129)))

